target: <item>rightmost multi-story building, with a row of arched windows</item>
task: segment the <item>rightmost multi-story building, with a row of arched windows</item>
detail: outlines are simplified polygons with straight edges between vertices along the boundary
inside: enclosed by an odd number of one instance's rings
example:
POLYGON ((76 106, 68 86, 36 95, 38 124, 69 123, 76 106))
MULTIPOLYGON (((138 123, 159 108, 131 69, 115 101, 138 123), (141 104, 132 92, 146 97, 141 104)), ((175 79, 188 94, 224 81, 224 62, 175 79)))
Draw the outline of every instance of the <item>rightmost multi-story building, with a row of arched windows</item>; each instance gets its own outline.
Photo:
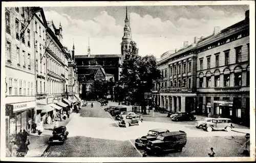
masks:
POLYGON ((197 112, 248 120, 249 11, 244 20, 200 40, 197 53, 197 112))

